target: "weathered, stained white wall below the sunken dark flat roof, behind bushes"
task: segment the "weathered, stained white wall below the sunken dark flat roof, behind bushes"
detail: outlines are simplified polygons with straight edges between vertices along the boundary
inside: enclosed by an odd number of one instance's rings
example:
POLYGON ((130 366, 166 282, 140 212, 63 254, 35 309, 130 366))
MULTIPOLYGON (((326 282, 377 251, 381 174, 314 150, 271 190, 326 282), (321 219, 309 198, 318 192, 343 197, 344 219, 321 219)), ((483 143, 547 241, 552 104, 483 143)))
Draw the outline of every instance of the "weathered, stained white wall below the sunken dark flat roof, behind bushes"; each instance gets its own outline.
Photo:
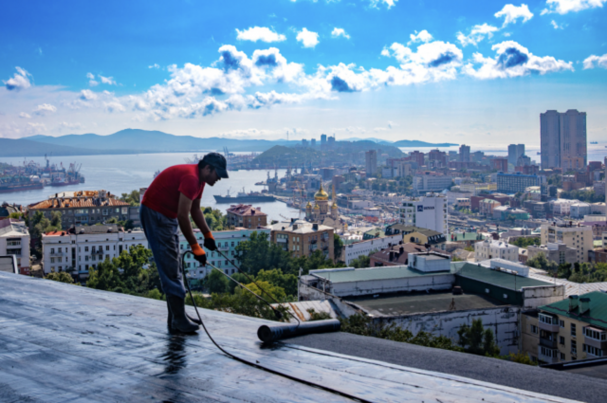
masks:
POLYGON ((472 325, 472 320, 483 319, 485 328, 493 331, 500 354, 518 352, 518 306, 496 306, 480 310, 443 311, 436 313, 411 314, 405 316, 376 317, 374 323, 392 325, 408 329, 413 334, 427 331, 434 336, 446 336, 457 343, 457 331, 461 325, 472 325))

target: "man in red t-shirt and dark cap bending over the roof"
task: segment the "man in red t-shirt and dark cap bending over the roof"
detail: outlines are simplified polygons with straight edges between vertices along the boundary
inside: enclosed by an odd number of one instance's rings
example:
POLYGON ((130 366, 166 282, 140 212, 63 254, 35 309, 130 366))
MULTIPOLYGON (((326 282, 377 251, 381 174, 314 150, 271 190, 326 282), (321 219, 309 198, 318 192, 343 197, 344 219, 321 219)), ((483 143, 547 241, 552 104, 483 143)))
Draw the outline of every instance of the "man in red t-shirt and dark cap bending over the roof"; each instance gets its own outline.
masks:
MULTIPOLYGON (((143 195, 141 225, 166 294, 170 330, 191 333, 199 328, 185 313, 186 290, 181 278, 178 229, 188 241, 195 259, 202 266, 206 265, 205 251, 196 241, 189 215, 192 215, 192 220, 205 237, 205 248, 217 250, 205 216, 200 211, 200 197, 206 184, 213 186, 222 178, 228 178, 226 159, 221 154, 211 152, 198 164, 175 165, 165 169, 143 195)), ((198 320, 195 322, 200 323, 198 320)))

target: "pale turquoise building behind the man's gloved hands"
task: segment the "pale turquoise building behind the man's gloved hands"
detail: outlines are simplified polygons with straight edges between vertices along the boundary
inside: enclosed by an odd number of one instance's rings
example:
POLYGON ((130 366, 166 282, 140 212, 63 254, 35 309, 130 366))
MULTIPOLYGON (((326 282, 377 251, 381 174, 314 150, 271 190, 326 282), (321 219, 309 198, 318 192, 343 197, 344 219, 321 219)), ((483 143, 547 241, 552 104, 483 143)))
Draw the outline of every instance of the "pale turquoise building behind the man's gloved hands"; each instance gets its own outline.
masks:
MULTIPOLYGON (((205 237, 203 237, 202 232, 200 232, 200 229, 194 229, 194 235, 198 240, 200 246, 205 249, 207 262, 211 263, 211 265, 215 266, 218 269, 222 269, 225 274, 232 275, 236 273, 236 266, 234 265, 234 263, 238 264, 238 262, 236 262, 234 258, 236 254, 236 246, 238 246, 240 242, 251 239, 251 234, 253 234, 253 231, 257 231, 257 233, 263 232, 265 234, 268 234, 268 239, 270 239, 270 228, 236 228, 231 229, 229 231, 213 232, 215 243, 217 243, 217 249, 219 249, 219 251, 221 251, 226 257, 228 257, 228 259, 221 256, 219 252, 211 252, 205 248, 205 237)), ((181 233, 179 234, 179 248, 181 253, 190 250, 188 241, 181 233)), ((192 254, 188 254, 188 256, 186 256, 185 263, 185 268, 189 269, 188 278, 192 280, 202 280, 207 274, 211 273, 212 270, 210 266, 202 267, 200 263, 192 257, 192 254)))

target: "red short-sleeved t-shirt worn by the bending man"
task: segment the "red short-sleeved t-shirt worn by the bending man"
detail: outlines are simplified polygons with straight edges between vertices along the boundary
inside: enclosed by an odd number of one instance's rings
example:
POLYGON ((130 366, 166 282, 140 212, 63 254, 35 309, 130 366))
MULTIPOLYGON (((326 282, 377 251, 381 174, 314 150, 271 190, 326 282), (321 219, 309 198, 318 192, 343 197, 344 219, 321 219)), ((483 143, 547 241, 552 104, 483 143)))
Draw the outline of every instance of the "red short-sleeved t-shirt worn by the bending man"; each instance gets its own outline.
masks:
POLYGON ((202 196, 205 183, 198 178, 198 164, 170 166, 160 172, 143 195, 141 204, 169 218, 177 218, 179 195, 190 200, 202 196))

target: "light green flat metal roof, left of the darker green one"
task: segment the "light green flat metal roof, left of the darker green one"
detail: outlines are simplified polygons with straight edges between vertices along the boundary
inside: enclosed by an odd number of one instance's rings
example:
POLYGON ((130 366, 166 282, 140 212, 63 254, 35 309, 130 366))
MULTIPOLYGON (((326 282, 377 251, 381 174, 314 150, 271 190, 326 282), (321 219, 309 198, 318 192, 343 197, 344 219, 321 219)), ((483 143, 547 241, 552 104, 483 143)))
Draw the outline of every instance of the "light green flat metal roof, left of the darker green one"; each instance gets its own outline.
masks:
POLYGON ((311 273, 316 276, 330 280, 332 283, 347 283, 354 281, 366 280, 388 280, 388 279, 404 279, 407 277, 434 276, 436 274, 456 273, 457 269, 451 266, 450 271, 438 271, 426 273, 409 266, 383 266, 365 269, 353 269, 342 271, 326 271, 323 273, 311 273))

